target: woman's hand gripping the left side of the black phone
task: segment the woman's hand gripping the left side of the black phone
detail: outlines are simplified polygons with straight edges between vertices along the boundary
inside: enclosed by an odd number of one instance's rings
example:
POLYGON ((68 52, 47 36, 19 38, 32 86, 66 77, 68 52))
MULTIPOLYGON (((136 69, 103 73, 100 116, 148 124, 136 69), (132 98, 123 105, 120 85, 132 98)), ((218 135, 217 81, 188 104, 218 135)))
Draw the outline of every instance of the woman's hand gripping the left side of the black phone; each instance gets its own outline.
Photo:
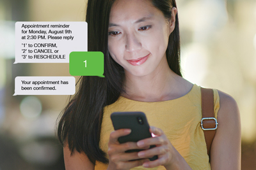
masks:
POLYGON ((126 150, 148 148, 148 146, 139 147, 135 142, 127 142, 122 144, 118 142, 118 138, 120 136, 126 136, 130 133, 131 129, 119 129, 111 132, 108 143, 109 170, 131 169, 132 167, 141 166, 143 163, 149 161, 148 159, 141 159, 138 156, 138 152, 125 153, 126 150))

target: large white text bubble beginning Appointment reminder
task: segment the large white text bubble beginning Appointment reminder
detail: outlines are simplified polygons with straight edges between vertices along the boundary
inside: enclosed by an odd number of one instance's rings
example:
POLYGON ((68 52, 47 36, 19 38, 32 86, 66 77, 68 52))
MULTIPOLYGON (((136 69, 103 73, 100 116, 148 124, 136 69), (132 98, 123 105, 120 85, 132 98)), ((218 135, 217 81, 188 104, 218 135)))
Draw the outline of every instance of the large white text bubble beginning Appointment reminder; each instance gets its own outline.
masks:
POLYGON ((87 52, 86 22, 16 22, 15 62, 69 62, 70 52, 87 52))

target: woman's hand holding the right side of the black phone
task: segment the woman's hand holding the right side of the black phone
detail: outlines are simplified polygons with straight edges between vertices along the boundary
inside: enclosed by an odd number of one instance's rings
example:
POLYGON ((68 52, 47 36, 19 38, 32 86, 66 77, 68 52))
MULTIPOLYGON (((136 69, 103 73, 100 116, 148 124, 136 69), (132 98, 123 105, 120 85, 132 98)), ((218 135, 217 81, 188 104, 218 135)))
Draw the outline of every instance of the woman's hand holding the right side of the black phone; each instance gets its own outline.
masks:
POLYGON ((166 169, 191 169, 161 129, 151 126, 150 132, 156 135, 156 137, 140 140, 137 145, 140 148, 150 145, 156 145, 156 147, 138 152, 138 156, 143 159, 157 155, 158 159, 145 162, 143 167, 164 166, 166 169))

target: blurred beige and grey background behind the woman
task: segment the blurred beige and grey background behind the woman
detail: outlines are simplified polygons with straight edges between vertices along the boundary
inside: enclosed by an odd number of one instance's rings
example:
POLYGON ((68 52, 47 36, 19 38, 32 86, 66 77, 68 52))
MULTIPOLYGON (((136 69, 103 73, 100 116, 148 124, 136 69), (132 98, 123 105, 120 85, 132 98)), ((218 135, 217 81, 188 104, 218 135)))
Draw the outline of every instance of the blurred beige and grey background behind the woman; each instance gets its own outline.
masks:
MULTIPOLYGON (((177 0, 184 78, 233 96, 242 169, 256 169, 256 1, 177 0)), ((0 0, 0 170, 65 169, 56 119, 69 96, 13 96, 16 76, 70 76, 68 64, 13 64, 15 22, 84 21, 86 0, 0 0)))

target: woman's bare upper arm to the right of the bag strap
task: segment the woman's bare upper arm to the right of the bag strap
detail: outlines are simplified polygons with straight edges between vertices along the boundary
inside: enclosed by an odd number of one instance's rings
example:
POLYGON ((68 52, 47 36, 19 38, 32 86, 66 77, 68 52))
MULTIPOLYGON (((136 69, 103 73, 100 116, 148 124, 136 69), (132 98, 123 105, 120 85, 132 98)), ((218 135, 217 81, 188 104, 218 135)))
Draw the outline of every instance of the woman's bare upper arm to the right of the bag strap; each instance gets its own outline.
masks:
POLYGON ((212 170, 241 169, 241 122, 236 101, 220 92, 218 129, 211 147, 212 170))

